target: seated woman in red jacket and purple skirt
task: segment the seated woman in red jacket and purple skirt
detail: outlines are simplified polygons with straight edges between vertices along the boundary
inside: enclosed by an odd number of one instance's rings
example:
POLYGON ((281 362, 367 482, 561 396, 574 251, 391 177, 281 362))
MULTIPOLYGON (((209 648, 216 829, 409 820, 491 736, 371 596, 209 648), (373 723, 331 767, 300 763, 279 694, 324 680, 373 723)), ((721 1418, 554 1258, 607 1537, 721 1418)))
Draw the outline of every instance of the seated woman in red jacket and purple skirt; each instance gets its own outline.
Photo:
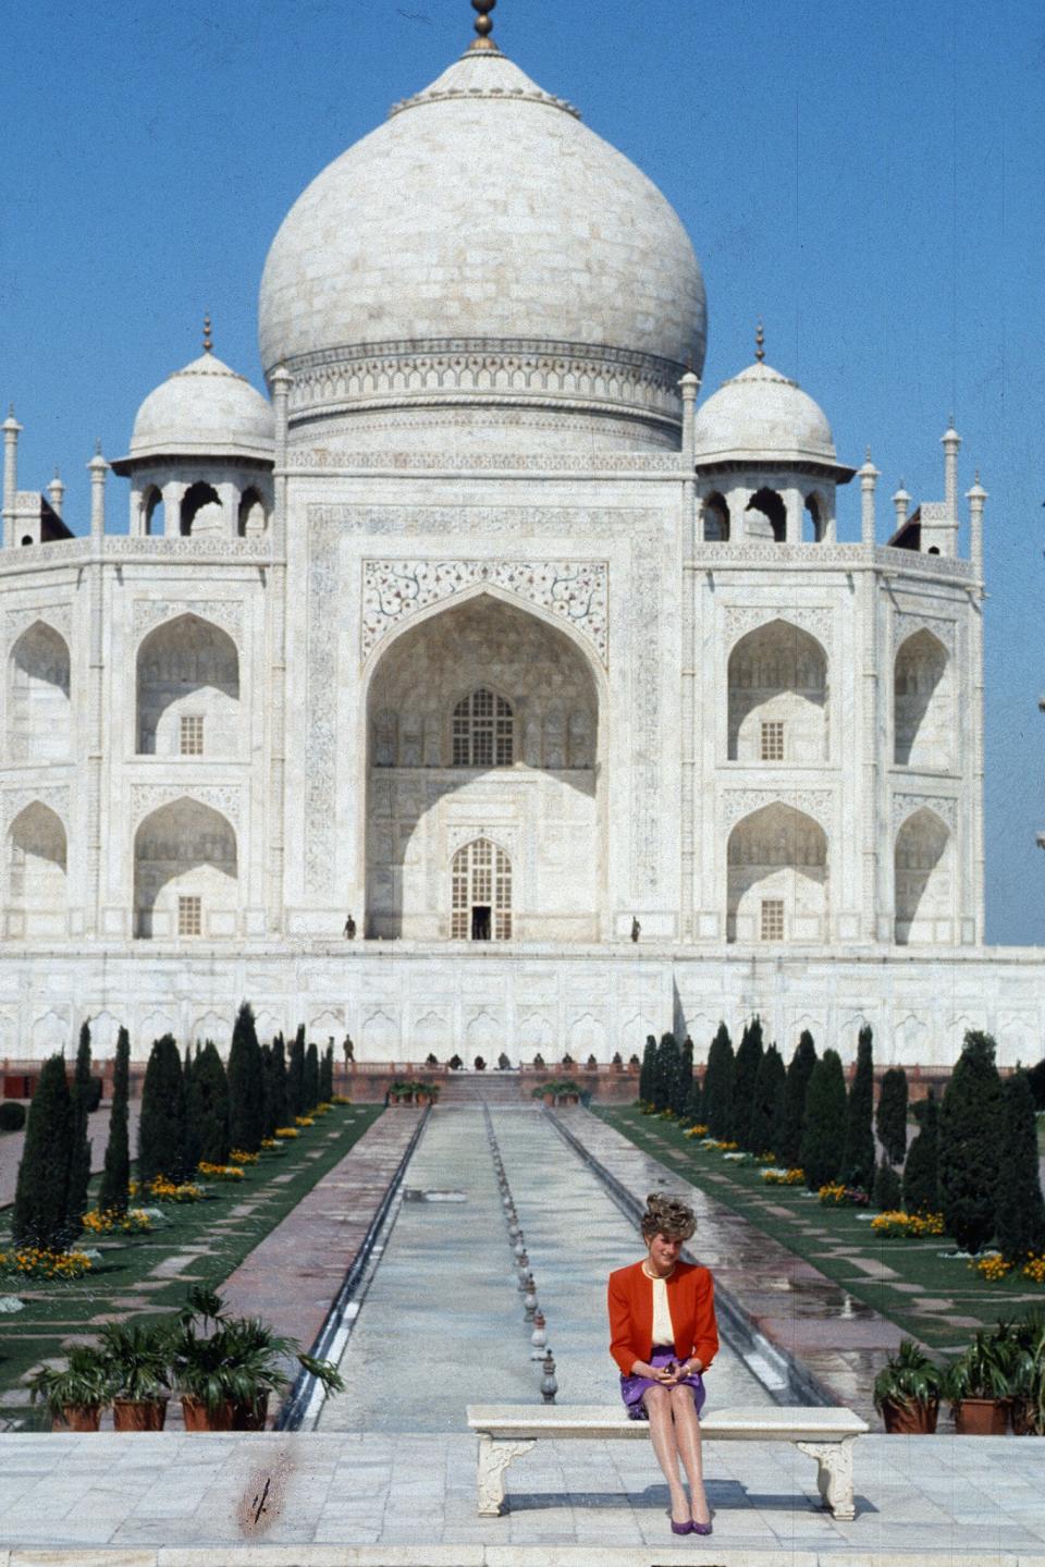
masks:
POLYGON ((700 1410, 703 1373, 719 1335, 714 1287, 707 1268, 680 1261, 697 1227, 692 1208, 650 1192, 642 1214, 645 1257, 609 1274, 609 1354, 620 1368, 620 1396, 631 1420, 649 1420, 656 1460, 671 1492, 672 1534, 710 1534, 703 1493, 700 1410), (678 1460, 689 1481, 689 1501, 678 1460))

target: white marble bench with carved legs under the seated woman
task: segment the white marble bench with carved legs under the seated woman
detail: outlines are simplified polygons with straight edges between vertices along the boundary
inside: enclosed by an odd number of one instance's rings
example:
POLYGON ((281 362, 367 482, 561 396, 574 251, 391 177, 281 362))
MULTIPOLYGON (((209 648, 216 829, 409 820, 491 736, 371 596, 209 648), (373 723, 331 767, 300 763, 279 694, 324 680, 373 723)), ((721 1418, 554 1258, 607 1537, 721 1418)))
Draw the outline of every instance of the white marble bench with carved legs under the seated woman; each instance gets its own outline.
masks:
MULTIPOLYGON (((468 1404, 468 1426, 479 1439, 478 1498, 484 1517, 504 1507, 504 1475, 542 1437, 553 1442, 644 1440, 644 1420, 603 1404, 468 1404)), ((700 1421, 705 1442, 793 1442, 816 1459, 816 1486, 832 1517, 855 1517, 852 1506, 852 1443, 868 1431, 851 1409, 769 1406, 721 1409, 700 1421)))

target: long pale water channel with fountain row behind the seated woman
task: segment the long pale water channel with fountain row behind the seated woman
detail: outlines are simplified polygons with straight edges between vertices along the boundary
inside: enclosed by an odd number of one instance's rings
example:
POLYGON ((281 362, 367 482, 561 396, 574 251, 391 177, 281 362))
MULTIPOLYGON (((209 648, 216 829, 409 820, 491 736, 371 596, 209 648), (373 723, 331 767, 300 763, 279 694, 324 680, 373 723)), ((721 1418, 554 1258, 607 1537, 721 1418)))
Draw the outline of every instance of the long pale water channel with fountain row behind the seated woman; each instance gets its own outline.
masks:
MULTIPOLYGON (((501 1192, 487 1139, 501 1152, 547 1316, 559 1404, 614 1404, 606 1276, 642 1243, 597 1175, 536 1108, 434 1109, 406 1172, 381 1258, 357 1296, 340 1357, 346 1391, 320 1431, 464 1429, 465 1404, 539 1402, 501 1192)), ((699 1236, 694 1241, 699 1255, 699 1236)), ((721 1324, 719 1324, 721 1327, 721 1324)), ((722 1344, 708 1409, 769 1404, 722 1344)))

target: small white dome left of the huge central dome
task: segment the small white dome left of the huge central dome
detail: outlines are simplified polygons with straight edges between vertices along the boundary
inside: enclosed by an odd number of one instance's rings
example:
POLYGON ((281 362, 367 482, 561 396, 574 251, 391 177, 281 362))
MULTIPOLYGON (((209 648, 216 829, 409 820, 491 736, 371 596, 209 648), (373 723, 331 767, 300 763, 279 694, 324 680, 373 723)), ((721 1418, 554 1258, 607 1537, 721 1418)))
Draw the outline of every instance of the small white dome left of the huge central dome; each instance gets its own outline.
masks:
POLYGON ((212 353, 150 392, 138 409, 130 459, 262 458, 273 461, 276 420, 260 392, 212 353))

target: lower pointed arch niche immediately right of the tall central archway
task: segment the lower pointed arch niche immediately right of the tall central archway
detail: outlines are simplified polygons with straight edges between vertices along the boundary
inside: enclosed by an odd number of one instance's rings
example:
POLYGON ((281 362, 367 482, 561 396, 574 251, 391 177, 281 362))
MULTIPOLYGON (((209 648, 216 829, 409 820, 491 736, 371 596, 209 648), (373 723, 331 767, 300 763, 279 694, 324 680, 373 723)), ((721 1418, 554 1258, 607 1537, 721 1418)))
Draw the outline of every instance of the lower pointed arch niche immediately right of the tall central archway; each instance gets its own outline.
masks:
POLYGON ((729 942, 827 940, 827 837, 777 801, 736 823, 727 845, 729 942))

